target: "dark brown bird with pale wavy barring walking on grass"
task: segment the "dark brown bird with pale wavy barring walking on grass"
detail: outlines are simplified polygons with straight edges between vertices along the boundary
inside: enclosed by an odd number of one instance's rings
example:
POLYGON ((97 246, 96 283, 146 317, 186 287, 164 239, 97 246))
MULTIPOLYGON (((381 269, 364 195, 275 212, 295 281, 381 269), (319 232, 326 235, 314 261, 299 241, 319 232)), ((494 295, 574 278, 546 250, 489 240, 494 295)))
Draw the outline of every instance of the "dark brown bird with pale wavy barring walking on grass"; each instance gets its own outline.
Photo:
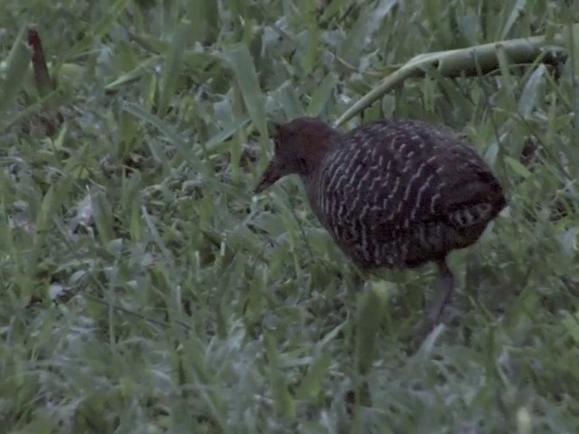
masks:
POLYGON ((271 126, 274 154, 253 193, 299 175, 311 211, 363 274, 436 264, 424 315, 439 322, 455 285, 449 254, 478 241, 507 206, 482 156, 450 127, 413 118, 347 132, 308 117, 271 126))

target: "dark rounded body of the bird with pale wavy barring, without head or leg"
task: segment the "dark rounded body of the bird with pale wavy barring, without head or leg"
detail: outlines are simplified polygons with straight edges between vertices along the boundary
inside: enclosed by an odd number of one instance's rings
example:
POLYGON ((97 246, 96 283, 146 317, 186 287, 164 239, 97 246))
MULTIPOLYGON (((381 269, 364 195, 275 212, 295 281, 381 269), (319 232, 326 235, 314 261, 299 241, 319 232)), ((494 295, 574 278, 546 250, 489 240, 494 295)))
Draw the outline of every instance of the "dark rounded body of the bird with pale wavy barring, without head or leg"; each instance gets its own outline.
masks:
POLYGON ((318 219, 363 269, 441 259, 477 241, 505 206, 476 151, 416 120, 372 122, 337 137, 312 181, 318 219))

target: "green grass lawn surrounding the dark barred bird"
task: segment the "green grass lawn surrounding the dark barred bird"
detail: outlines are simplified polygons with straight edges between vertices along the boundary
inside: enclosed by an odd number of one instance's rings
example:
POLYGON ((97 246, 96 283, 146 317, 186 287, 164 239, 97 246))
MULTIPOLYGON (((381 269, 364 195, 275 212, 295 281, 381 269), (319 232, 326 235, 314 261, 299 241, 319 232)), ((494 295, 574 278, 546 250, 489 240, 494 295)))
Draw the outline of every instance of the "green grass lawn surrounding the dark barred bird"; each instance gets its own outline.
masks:
POLYGON ((432 269, 347 293, 296 180, 252 197, 268 119, 333 121, 416 55, 553 34, 574 4, 7 0, 0 431, 578 432, 572 38, 556 73, 427 73, 346 123, 447 124, 508 191, 417 352, 432 269), (58 82, 43 97, 13 51, 31 23, 58 82))

